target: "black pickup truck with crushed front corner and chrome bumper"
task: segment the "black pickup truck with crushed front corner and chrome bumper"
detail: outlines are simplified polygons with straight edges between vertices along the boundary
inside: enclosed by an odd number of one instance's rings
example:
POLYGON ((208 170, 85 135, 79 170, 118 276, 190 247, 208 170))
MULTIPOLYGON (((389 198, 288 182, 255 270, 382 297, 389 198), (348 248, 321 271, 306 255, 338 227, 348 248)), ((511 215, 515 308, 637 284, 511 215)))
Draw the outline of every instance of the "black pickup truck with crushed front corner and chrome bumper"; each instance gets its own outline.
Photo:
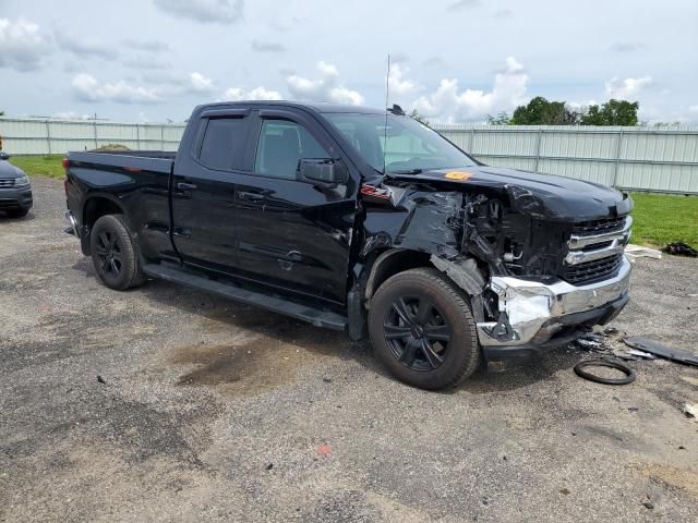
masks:
POLYGON ((370 336, 425 389, 559 346, 628 300, 627 195, 488 167, 398 107, 205 105, 177 154, 64 167, 107 287, 161 278, 370 336))

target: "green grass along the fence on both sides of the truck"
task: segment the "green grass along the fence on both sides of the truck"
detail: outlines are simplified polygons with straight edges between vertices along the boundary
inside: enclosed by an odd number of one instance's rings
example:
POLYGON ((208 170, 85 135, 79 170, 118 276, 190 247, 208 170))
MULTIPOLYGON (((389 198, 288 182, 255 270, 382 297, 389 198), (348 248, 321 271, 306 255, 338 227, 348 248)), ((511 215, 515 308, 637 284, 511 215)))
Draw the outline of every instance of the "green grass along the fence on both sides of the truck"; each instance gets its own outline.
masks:
MULTIPOLYGON (((15 156, 12 163, 29 174, 62 179, 63 155, 15 156)), ((663 247, 671 242, 698 246, 698 196, 633 193, 633 243, 663 247)))

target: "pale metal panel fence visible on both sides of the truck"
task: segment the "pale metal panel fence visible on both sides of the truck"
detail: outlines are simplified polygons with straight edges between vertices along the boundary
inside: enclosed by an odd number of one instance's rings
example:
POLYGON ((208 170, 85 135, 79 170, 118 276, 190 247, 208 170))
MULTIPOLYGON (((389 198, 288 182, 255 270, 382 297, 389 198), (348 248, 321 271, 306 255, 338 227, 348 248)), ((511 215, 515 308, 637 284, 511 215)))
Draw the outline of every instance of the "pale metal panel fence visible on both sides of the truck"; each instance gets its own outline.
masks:
MULTIPOLYGON (((698 194, 698 127, 435 125, 483 162, 605 185, 698 194)), ((108 144, 176 150, 183 123, 0 118, 4 150, 64 154, 108 144)))

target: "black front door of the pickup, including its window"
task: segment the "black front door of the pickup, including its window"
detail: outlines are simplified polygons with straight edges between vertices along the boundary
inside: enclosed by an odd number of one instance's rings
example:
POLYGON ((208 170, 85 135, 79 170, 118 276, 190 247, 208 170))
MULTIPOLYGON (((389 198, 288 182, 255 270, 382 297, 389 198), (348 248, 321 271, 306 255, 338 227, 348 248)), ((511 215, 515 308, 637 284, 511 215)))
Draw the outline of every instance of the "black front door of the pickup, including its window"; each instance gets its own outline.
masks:
POLYGON ((266 284, 344 303, 356 184, 297 179, 301 158, 339 159, 339 149, 301 111, 264 109, 254 124, 252 172, 236 175, 239 267, 266 284))

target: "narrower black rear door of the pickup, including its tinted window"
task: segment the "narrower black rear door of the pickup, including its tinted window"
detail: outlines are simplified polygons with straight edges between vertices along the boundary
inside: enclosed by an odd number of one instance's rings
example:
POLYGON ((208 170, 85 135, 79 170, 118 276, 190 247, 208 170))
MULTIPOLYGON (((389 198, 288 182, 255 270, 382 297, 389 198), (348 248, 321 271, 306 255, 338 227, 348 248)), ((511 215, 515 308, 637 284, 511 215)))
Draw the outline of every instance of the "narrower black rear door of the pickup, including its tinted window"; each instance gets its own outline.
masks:
POLYGON ((234 179, 251 163, 250 122, 246 109, 204 111, 192 149, 180 151, 172 175, 173 241, 188 265, 234 271, 234 179))

